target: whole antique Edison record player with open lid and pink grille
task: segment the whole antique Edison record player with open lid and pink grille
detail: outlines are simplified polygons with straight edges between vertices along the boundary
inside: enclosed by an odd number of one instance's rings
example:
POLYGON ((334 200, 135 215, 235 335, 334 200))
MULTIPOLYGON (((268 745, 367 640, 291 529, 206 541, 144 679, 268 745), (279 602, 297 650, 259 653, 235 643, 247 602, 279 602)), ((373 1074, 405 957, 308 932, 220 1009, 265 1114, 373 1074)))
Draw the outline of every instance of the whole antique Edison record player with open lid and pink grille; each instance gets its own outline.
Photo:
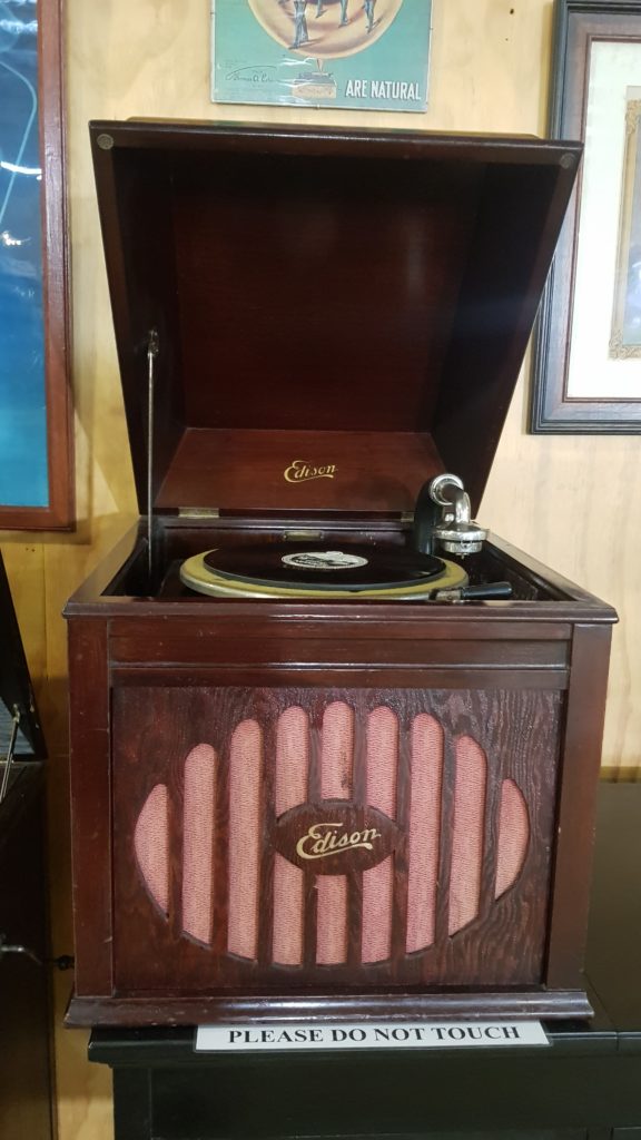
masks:
POLYGON ((589 1013, 615 614, 473 518, 579 147, 91 139, 144 518, 66 609, 70 1023, 589 1013))

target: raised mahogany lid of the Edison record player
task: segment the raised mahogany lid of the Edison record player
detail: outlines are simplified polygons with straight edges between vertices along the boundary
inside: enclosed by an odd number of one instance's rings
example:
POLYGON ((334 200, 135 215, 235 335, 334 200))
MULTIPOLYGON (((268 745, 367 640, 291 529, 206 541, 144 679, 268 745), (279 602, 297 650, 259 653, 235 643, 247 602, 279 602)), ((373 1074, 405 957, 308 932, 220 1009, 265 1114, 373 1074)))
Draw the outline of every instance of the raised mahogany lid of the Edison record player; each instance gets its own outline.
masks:
POLYGON ((91 124, 140 508, 478 506, 581 157, 492 136, 91 124))

